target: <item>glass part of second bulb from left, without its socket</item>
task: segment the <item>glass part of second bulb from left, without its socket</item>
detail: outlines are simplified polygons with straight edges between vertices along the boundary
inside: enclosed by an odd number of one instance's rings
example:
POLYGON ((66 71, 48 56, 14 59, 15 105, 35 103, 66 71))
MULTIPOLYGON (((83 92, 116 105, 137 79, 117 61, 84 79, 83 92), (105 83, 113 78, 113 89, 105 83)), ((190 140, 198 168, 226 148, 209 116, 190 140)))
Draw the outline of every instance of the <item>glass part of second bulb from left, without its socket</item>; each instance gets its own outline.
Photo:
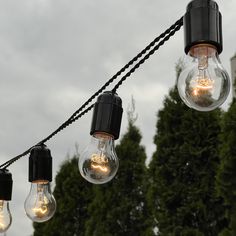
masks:
POLYGON ((25 200, 25 212, 34 222, 51 219, 56 211, 56 200, 48 181, 31 183, 30 193, 25 200))

